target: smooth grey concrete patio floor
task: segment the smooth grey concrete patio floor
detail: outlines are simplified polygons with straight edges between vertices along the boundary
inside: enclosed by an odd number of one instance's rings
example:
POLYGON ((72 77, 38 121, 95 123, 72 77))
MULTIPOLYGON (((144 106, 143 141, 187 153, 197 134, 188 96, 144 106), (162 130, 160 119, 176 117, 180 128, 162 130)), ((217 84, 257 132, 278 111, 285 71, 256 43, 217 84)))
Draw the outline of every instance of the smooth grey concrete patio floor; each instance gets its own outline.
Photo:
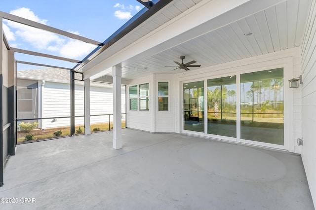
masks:
POLYGON ((123 129, 17 146, 0 209, 313 210, 301 156, 123 129), (21 203, 35 198, 36 203, 21 203))

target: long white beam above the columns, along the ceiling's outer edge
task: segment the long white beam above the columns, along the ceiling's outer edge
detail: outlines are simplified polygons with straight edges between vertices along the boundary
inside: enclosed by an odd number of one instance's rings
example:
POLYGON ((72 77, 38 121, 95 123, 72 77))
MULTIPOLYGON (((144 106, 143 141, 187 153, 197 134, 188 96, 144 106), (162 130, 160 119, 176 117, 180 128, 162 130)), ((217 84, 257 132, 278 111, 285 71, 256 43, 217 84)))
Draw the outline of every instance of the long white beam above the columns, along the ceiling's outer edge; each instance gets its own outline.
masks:
MULTIPOLYGON (((203 0, 109 58, 104 53, 84 65, 83 78, 101 77, 104 69, 150 57, 284 0, 203 0)), ((163 11, 162 11, 163 12, 163 11)))

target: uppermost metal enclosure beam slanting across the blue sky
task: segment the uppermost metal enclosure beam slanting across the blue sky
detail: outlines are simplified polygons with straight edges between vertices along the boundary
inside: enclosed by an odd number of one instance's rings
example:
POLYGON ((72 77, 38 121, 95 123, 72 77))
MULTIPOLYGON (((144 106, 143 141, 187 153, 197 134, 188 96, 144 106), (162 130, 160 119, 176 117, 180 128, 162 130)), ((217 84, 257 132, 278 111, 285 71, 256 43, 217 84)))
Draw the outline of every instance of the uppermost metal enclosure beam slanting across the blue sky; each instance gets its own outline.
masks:
POLYGON ((83 36, 79 36, 77 34, 70 33, 70 32, 64 31, 64 30, 59 30, 59 29, 56 29, 56 28, 53 28, 53 27, 50 27, 50 26, 46 26, 44 24, 40 24, 38 22, 31 21, 31 20, 28 20, 28 19, 25 19, 25 18, 21 18, 19 16, 15 16, 15 15, 12 15, 12 14, 9 14, 9 13, 6 13, 6 12, 0 11, 0 17, 2 17, 3 19, 6 19, 6 20, 10 20, 10 21, 14 21, 14 22, 17 22, 17 23, 21 23, 21 24, 27 25, 27 26, 31 26, 31 27, 34 27, 34 28, 37 28, 37 29, 50 31, 50 32, 53 32, 53 33, 58 33, 60 35, 67 36, 67 37, 73 38, 73 39, 77 39, 77 40, 80 40, 80 41, 83 41, 83 42, 86 42, 86 43, 99 45, 99 46, 103 45, 101 42, 98 42, 98 41, 95 41, 95 40, 92 40, 92 39, 89 39, 89 38, 86 38, 86 37, 83 37, 83 36))

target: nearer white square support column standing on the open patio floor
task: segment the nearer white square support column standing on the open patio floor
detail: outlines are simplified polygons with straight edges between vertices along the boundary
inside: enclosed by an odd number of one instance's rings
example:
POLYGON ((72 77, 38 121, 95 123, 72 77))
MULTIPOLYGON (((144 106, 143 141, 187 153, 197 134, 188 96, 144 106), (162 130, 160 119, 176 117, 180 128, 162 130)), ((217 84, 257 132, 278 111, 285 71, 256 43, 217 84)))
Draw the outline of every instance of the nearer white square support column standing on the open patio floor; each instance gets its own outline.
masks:
POLYGON ((119 63, 112 67, 113 76, 113 149, 123 147, 122 143, 122 110, 121 110, 121 76, 122 66, 119 63))

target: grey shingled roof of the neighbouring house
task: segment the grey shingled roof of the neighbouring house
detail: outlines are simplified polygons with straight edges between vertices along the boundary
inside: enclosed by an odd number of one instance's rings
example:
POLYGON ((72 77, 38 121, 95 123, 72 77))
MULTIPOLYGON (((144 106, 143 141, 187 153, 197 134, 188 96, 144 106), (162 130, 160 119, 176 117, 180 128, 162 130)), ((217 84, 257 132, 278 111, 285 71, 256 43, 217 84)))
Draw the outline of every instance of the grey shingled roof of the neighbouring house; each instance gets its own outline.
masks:
MULTIPOLYGON (((70 83, 70 71, 67 69, 60 68, 41 68, 41 69, 28 69, 17 71, 18 79, 28 80, 45 80, 56 83, 70 83)), ((75 79, 81 80, 82 76, 79 73, 75 73, 75 79)), ((102 86, 107 88, 113 88, 112 84, 93 82, 91 86, 102 86)))

